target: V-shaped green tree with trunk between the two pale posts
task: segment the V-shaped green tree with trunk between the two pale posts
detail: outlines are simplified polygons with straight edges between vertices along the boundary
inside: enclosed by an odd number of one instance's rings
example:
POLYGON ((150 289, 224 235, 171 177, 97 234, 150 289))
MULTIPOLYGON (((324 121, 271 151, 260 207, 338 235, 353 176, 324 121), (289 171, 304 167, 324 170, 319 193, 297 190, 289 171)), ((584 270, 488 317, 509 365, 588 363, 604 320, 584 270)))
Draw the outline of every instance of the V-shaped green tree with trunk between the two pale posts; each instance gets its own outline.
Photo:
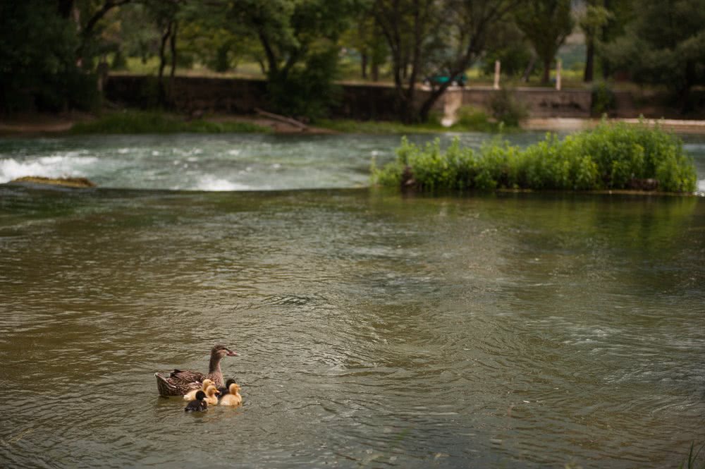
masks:
POLYGON ((570 0, 533 0, 517 10, 515 20, 544 65, 541 83, 548 83, 551 63, 573 29, 570 0))

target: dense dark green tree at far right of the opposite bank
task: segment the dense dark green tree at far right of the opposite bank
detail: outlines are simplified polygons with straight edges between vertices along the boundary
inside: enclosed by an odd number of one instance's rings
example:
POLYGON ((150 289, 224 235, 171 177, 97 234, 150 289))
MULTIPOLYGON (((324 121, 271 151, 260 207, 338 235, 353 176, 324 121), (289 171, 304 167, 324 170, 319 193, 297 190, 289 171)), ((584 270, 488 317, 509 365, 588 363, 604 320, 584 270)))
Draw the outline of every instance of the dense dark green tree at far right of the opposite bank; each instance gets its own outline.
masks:
POLYGON ((689 111, 692 87, 705 85, 704 24, 705 0, 646 2, 625 35, 606 46, 606 60, 637 83, 666 86, 689 111))

